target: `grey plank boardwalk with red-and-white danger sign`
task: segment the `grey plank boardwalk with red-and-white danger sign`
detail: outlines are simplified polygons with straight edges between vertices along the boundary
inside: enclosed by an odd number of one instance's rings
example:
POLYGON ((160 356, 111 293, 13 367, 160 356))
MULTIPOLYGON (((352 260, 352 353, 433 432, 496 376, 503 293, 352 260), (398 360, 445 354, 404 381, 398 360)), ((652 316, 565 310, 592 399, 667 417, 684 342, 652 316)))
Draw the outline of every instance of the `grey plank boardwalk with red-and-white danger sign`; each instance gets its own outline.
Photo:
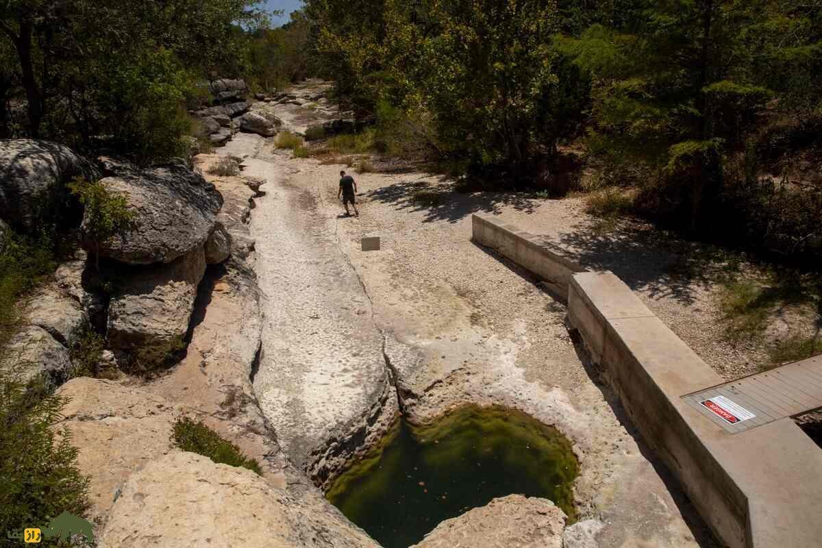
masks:
POLYGON ((682 396, 732 434, 822 408, 822 356, 682 396))

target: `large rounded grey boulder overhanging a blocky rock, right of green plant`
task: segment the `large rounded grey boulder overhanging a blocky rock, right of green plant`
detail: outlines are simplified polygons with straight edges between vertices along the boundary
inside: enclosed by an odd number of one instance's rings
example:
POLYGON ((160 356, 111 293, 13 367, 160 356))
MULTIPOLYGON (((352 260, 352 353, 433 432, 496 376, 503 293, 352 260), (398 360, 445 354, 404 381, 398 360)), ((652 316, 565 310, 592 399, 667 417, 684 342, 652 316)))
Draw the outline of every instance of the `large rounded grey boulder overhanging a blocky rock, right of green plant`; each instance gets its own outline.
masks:
MULTIPOLYGON (((99 255, 133 265, 169 263, 201 247, 215 228, 223 198, 191 169, 172 164, 136 172, 125 169, 101 182, 126 196, 136 213, 125 233, 99 245, 99 255)), ((83 223, 88 223, 87 218, 83 223)), ((96 251, 86 239, 85 249, 96 251)))

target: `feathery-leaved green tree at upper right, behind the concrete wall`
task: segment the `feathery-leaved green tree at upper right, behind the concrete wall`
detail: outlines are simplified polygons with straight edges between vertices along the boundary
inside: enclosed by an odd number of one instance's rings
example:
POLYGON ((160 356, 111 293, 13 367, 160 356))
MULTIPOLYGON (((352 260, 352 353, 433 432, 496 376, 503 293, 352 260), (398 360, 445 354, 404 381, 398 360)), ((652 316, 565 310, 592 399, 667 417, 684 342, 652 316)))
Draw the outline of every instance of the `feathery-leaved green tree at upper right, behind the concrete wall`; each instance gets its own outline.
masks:
POLYGON ((589 143, 612 159, 648 164, 671 183, 690 228, 723 182, 722 155, 739 147, 773 90, 755 62, 778 38, 762 25, 785 15, 769 0, 643 2, 621 27, 593 25, 561 47, 593 77, 589 143))

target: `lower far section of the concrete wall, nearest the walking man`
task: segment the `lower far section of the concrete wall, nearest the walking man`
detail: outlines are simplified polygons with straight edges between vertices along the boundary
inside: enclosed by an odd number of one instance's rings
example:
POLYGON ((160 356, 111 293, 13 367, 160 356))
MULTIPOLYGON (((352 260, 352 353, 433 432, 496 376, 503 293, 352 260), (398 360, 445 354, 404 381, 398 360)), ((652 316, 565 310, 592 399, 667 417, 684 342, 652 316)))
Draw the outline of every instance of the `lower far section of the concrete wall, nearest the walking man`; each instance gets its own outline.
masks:
POLYGON ((562 256, 561 248, 543 238, 474 214, 473 241, 490 247, 542 279, 562 300, 568 300, 570 277, 585 269, 562 256))

